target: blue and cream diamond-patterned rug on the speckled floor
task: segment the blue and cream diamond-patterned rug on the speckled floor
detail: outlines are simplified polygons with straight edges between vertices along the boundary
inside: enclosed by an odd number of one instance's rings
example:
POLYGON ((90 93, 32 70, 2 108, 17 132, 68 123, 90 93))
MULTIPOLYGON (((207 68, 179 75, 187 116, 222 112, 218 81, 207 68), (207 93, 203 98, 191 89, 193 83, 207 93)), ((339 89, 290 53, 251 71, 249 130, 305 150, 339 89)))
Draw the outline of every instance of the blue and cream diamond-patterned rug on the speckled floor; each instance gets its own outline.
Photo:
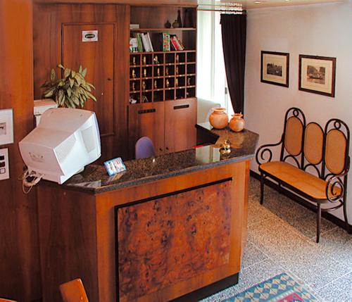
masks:
POLYGON ((289 275, 282 273, 267 281, 254 285, 222 302, 318 302, 289 275))

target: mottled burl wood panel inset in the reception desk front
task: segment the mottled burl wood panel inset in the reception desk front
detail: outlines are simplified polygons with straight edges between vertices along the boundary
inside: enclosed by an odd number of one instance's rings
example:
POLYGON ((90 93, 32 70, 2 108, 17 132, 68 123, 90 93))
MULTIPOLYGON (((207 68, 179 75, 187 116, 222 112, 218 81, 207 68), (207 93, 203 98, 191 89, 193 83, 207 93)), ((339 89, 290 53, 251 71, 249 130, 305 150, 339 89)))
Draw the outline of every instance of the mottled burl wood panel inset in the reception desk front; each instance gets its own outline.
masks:
POLYGON ((230 260, 231 182, 118 209, 120 301, 230 260))

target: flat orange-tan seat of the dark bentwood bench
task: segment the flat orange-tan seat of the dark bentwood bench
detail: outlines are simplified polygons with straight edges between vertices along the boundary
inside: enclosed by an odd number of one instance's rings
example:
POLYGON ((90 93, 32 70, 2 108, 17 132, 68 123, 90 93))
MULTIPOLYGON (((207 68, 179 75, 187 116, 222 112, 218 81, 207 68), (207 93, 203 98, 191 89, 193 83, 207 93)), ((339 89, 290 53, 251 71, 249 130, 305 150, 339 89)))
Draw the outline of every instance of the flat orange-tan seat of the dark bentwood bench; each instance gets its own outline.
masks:
MULTIPOLYGON (((291 187, 294 187, 313 199, 327 200, 327 182, 296 168, 294 165, 282 161, 272 161, 260 165, 260 170, 265 174, 279 179, 281 182, 289 184, 291 187)), ((339 194, 340 191, 340 189, 336 190, 336 193, 339 194)))

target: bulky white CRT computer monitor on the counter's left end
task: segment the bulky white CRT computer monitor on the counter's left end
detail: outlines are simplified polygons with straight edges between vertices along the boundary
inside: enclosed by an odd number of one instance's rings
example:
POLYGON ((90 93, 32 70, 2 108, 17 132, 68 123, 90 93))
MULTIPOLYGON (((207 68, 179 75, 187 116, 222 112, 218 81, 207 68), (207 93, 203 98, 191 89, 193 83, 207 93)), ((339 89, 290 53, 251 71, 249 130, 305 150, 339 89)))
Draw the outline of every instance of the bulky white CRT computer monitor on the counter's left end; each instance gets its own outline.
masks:
POLYGON ((96 115, 81 109, 49 109, 19 146, 27 176, 63 184, 101 156, 96 115))

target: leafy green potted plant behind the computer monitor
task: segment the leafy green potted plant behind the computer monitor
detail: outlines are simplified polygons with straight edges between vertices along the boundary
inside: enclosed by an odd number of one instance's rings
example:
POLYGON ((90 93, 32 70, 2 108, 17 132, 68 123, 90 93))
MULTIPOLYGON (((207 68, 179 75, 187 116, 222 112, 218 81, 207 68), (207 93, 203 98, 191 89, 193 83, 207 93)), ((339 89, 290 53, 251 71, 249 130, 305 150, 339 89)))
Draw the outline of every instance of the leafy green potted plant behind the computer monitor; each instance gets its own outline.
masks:
POLYGON ((83 108, 84 103, 89 99, 96 101, 95 96, 92 94, 92 89, 95 87, 84 80, 87 75, 87 68, 76 72, 70 68, 65 68, 59 64, 58 68, 63 70, 63 78, 56 78, 54 69, 51 69, 50 82, 45 82, 42 87, 46 88, 44 91, 44 98, 54 99, 59 107, 68 108, 83 108))

